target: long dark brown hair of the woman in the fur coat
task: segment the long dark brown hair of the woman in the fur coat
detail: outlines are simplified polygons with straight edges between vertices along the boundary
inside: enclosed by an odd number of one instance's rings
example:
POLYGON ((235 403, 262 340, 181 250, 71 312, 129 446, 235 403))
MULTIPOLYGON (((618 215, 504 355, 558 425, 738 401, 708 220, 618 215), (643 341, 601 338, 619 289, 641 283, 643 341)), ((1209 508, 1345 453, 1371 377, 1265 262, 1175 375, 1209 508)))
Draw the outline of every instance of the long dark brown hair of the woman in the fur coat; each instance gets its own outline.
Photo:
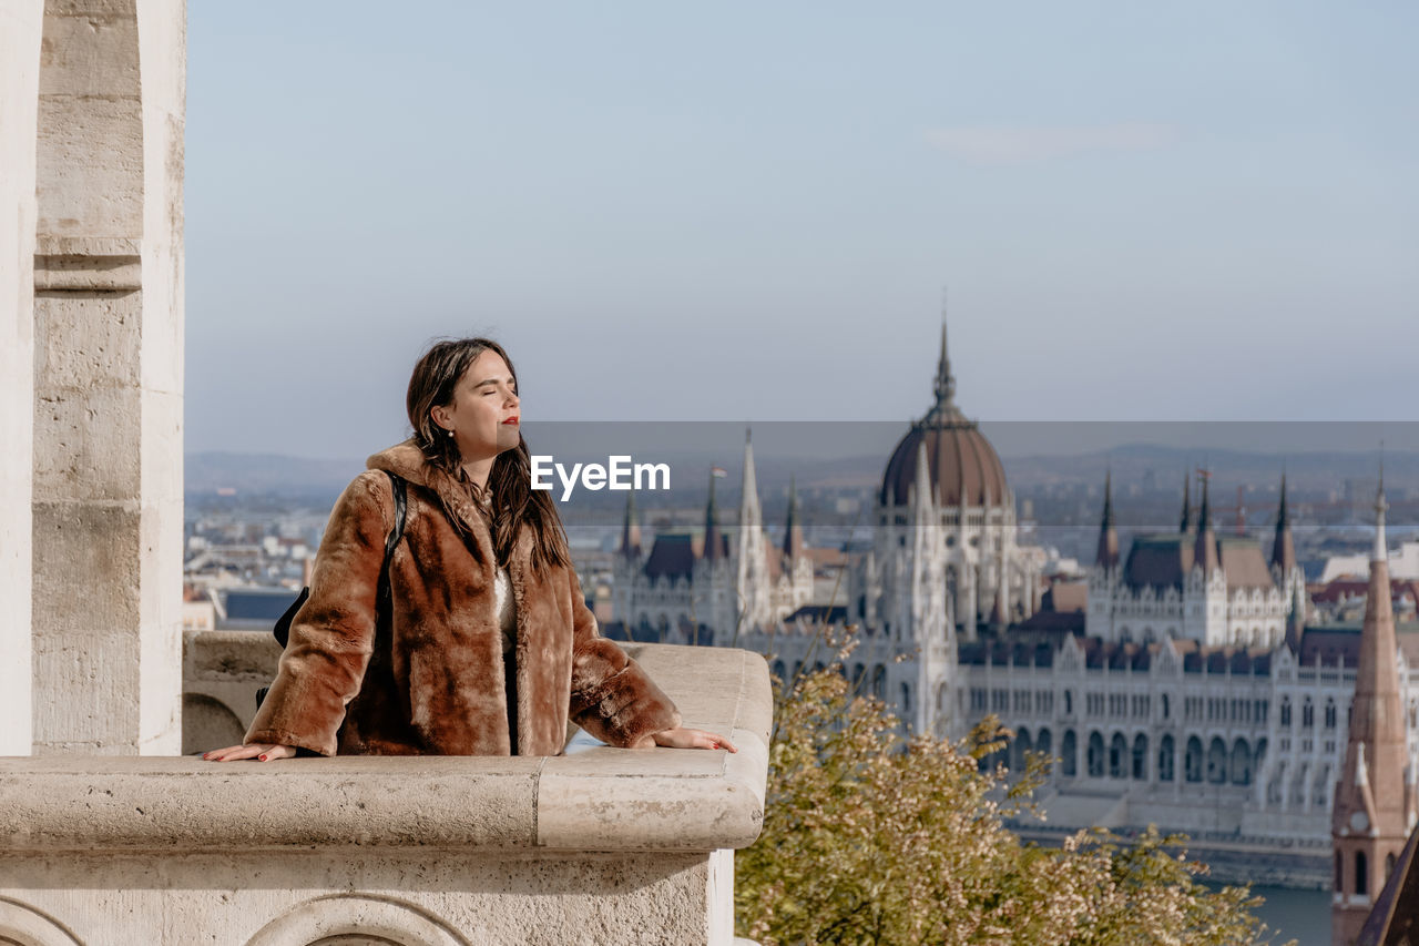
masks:
MULTIPOLYGON (((492 506, 492 548, 499 562, 507 562, 512 554, 512 544, 517 540, 518 528, 526 526, 532 530, 532 568, 543 574, 551 565, 570 567, 572 554, 566 545, 566 531, 562 528, 562 517, 556 513, 552 493, 532 489, 532 457, 528 443, 518 432, 518 446, 504 450, 492 462, 488 473, 488 489, 480 490, 467 483, 463 476, 463 457, 454 437, 434 423, 430 411, 434 406, 453 403, 454 388, 464 376, 474 359, 485 351, 495 352, 507 364, 517 384, 518 371, 512 366, 508 352, 502 345, 488 338, 450 338, 434 342, 423 354, 414 372, 409 378, 409 395, 406 406, 409 409, 409 425, 414 429, 414 442, 424 453, 424 462, 443 470, 453 479, 465 483, 474 494, 474 501, 490 507, 490 499, 497 497, 492 506), (444 436, 438 436, 444 433, 444 436)), ((518 388, 521 391, 521 388, 518 388)), ((463 524, 451 510, 444 510, 455 528, 463 531, 463 524)))

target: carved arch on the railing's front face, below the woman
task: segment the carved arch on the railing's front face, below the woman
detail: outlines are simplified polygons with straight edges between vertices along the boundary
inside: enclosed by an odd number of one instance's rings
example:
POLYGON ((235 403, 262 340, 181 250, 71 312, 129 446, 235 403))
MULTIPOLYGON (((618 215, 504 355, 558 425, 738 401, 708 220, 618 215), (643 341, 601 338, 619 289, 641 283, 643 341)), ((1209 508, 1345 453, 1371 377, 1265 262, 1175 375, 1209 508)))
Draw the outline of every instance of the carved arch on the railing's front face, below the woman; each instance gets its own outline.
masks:
POLYGON ((427 910, 387 896, 333 893, 292 906, 263 926, 247 946, 471 946, 427 910))

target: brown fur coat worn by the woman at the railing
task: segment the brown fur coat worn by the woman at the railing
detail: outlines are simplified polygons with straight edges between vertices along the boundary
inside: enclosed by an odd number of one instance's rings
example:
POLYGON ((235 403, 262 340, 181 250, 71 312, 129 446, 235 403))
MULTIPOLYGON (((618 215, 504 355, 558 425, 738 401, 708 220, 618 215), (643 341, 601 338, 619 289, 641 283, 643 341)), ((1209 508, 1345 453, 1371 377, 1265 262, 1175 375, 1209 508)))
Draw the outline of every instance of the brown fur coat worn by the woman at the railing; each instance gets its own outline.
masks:
MULTIPOLYGON (((494 615, 492 537, 465 489, 424 463, 412 442, 376 453, 331 513, 311 597, 245 743, 322 756, 507 756, 502 632, 494 615), (389 477, 409 482, 404 538, 389 567, 393 619, 375 626, 385 540, 393 527, 389 477), (440 496, 468 530, 461 535, 440 496)), ((556 756, 568 717, 630 746, 680 726, 675 705, 597 634, 576 571, 531 568, 531 530, 514 544, 519 756, 556 756)))

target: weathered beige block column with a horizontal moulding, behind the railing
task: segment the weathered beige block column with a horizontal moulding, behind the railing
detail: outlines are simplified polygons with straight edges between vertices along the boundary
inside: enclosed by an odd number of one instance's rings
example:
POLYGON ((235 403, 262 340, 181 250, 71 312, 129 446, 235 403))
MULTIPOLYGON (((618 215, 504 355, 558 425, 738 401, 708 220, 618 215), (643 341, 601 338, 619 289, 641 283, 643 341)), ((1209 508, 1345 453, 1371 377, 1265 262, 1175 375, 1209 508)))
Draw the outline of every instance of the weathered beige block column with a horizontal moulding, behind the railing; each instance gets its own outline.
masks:
POLYGON ((34 751, 177 754, 180 0, 47 0, 34 249, 34 751))

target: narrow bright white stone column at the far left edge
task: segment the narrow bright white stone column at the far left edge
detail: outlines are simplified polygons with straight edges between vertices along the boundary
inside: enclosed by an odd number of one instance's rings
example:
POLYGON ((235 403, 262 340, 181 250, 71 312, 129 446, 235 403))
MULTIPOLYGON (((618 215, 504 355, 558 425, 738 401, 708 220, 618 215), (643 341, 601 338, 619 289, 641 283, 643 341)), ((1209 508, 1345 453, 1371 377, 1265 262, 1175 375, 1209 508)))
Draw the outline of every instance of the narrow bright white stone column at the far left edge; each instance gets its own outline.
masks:
POLYGON ((0 4, 0 756, 28 756, 40 0, 0 4))

